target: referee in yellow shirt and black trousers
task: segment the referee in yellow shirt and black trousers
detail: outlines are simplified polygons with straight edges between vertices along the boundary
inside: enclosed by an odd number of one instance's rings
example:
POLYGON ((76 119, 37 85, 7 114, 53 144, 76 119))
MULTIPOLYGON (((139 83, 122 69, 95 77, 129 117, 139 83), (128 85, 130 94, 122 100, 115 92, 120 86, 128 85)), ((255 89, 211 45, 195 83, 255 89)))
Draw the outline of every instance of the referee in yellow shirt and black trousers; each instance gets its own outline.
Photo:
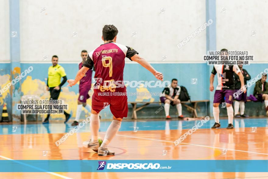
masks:
MULTIPOLYGON (((47 83, 47 90, 50 91, 50 99, 51 100, 57 100, 60 92, 61 92, 61 86, 67 81, 65 70, 62 66, 58 64, 58 56, 54 55, 52 56, 52 66, 48 68, 48 83, 47 83), (61 82, 61 77, 63 77, 63 80, 61 82)), ((71 115, 66 113, 64 111, 65 115, 65 122, 66 123, 71 115)), ((46 117, 43 124, 49 123, 50 114, 46 117)))

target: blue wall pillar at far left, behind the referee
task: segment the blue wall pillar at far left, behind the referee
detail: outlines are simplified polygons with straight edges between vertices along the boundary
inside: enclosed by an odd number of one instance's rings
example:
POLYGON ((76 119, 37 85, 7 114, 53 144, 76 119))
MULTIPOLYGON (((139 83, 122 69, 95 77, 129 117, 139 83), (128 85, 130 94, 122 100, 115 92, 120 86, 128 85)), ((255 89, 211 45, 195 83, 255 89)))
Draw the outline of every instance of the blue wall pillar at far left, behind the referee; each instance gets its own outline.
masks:
MULTIPOLYGON (((19 33, 19 0, 9 0, 9 30, 10 30, 10 68, 11 80, 15 79, 20 72, 20 33, 19 33)), ((21 82, 12 85, 12 104, 7 107, 12 109, 13 120, 20 119, 20 111, 16 110, 16 104, 20 103, 21 82)))

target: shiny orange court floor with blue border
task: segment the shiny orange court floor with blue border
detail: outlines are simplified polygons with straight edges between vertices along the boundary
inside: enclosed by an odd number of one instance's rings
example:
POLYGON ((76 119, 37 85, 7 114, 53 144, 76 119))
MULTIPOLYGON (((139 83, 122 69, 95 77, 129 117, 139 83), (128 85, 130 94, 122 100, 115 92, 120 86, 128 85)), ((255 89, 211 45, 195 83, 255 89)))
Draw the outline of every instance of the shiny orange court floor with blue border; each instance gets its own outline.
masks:
MULTIPOLYGON (((109 144, 115 156, 98 156, 82 147, 90 138, 89 124, 70 135, 59 146, 55 142, 72 129, 70 124, 51 123, 0 125, 1 160, 268 160, 268 119, 227 120, 220 129, 210 129, 214 121, 174 141, 198 121, 123 121, 109 144), (138 128, 137 128, 138 127, 138 128), (136 130, 135 130, 136 129, 136 130), (166 151, 164 154, 163 151, 166 151)), ((104 138, 110 122, 101 122, 104 138)), ((1 165, 0 165, 1 166, 1 165)), ((191 167, 191 166, 189 166, 191 167)), ((202 166, 200 166, 202 167, 202 166)), ((0 178, 268 178, 267 172, 1 172, 0 178)))

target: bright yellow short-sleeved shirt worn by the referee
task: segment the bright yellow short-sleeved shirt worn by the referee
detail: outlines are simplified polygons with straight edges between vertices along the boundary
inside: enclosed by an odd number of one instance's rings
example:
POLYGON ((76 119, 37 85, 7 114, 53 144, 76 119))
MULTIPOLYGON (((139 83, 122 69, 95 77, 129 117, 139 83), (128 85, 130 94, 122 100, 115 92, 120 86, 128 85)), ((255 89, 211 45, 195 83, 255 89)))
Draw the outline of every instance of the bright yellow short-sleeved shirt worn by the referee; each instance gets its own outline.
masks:
POLYGON ((62 66, 50 66, 48 68, 48 87, 56 87, 61 84, 61 77, 66 76, 65 70, 62 66))

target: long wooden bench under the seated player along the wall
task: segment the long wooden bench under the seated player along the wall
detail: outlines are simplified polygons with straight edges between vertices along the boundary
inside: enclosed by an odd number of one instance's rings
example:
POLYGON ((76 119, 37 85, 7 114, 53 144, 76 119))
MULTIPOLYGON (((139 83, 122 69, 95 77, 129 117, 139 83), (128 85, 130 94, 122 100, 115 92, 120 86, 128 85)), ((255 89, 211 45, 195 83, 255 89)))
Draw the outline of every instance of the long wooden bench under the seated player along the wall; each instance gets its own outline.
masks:
MULTIPOLYGON (((189 109, 192 112, 192 117, 197 117, 196 112, 196 106, 199 102, 209 102, 209 100, 197 100, 197 101, 182 101, 182 105, 185 106, 187 109, 189 109), (192 104, 192 106, 189 106, 189 103, 192 104)), ((137 111, 143 109, 145 106, 148 106, 149 104, 161 104, 161 102, 128 102, 132 105, 132 119, 137 119, 137 111), (137 108, 137 104, 141 104, 142 106, 137 108)), ((163 104, 163 103, 162 103, 163 104)), ((164 105, 164 104, 163 104, 164 105)))

